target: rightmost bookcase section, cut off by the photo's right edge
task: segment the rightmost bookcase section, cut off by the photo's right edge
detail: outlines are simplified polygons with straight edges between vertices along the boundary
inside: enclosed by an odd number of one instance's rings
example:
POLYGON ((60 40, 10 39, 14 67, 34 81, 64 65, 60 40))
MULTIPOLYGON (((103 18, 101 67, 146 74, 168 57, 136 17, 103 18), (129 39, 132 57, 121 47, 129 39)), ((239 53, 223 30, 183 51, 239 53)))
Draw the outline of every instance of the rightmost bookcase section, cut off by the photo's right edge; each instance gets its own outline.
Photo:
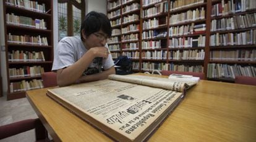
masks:
POLYGON ((210 80, 234 82, 235 76, 256 76, 256 2, 211 2, 210 80))

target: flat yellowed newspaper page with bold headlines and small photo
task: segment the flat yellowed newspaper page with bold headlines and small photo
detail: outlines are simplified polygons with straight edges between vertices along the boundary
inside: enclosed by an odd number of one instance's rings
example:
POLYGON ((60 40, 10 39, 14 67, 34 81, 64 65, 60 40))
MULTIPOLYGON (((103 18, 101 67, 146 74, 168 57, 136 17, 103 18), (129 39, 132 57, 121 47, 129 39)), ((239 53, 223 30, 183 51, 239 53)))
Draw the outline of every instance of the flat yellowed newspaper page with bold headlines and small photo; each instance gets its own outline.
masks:
MULTIPOLYGON (((109 79, 49 89, 48 93, 109 127, 103 130, 108 135, 113 136, 113 130, 130 141, 142 141, 148 136, 156 127, 154 122, 163 119, 163 114, 173 109, 171 107, 176 106, 183 95, 182 92, 109 79)), ((83 119, 90 122, 88 117, 83 119)), ((98 123, 93 125, 101 129, 98 123)))

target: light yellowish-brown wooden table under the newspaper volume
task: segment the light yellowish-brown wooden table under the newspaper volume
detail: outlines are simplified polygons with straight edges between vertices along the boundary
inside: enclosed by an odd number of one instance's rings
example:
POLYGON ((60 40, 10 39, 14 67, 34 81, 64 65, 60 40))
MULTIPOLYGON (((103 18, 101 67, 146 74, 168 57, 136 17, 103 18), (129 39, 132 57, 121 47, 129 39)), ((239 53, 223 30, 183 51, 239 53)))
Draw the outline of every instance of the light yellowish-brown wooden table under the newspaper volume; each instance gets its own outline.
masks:
MULTIPOLYGON (((27 98, 54 141, 112 141, 46 96, 27 98)), ((148 141, 256 141, 256 86, 200 81, 148 141)))

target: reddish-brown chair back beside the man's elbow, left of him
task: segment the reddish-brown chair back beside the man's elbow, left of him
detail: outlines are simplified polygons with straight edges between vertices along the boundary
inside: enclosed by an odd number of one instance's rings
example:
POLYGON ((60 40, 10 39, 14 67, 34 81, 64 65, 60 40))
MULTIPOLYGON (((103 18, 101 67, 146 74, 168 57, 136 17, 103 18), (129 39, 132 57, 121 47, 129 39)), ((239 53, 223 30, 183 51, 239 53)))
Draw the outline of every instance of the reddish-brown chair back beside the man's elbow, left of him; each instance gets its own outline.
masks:
POLYGON ((54 72, 45 72, 42 74, 43 86, 53 87, 57 86, 57 73, 54 72))

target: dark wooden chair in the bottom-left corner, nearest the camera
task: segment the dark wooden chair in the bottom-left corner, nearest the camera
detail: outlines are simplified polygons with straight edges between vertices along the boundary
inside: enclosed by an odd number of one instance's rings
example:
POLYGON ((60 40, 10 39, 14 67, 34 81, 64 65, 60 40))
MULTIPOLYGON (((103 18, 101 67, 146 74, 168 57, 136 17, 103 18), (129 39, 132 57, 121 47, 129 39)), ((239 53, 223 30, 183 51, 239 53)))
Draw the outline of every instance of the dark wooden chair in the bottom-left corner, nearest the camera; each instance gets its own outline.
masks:
POLYGON ((35 128, 36 141, 49 141, 48 132, 40 119, 27 119, 0 126, 0 140, 35 128))

